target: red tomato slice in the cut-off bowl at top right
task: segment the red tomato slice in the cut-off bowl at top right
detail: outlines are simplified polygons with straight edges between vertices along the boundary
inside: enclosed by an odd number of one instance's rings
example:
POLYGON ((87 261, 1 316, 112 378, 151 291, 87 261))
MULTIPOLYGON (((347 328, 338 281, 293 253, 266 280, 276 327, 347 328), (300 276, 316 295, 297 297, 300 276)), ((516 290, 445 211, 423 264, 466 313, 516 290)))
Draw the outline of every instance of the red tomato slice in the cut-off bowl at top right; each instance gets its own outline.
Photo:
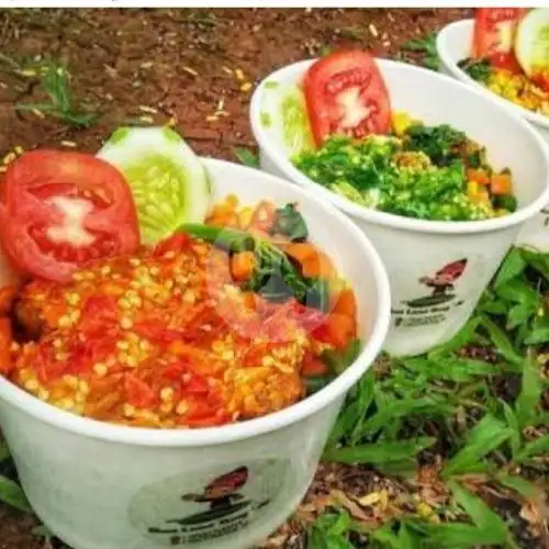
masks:
POLYGON ((526 8, 480 8, 477 10, 473 33, 473 56, 488 57, 494 67, 520 71, 513 44, 520 18, 526 8))

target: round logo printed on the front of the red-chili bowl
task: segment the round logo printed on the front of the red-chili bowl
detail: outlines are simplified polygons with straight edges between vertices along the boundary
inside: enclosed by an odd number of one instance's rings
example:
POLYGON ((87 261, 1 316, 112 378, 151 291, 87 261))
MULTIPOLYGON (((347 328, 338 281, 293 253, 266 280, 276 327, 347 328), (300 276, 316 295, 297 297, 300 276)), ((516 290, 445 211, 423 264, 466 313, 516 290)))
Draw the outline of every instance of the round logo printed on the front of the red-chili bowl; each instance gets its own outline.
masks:
POLYGON ((280 495, 289 468, 280 460, 189 471, 142 489, 131 523, 157 546, 206 546, 259 522, 280 495))

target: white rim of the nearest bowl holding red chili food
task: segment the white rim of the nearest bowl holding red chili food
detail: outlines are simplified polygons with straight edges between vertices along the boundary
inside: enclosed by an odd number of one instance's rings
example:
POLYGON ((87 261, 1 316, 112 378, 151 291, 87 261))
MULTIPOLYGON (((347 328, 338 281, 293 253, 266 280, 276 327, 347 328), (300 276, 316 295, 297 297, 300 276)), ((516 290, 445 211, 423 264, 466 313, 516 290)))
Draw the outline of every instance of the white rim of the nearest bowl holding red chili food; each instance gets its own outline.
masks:
POLYGON ((243 173, 247 172, 248 176, 256 178, 258 182, 262 182, 267 187, 278 186, 291 189, 292 193, 296 192, 301 195, 301 201, 314 203, 326 214, 326 216, 330 217, 334 223, 343 225, 347 237, 350 237, 354 245, 358 248, 357 251, 362 254, 365 260, 370 264, 374 280, 373 291, 377 298, 377 313, 372 322, 370 337, 365 343, 359 357, 345 370, 345 372, 339 374, 324 389, 292 406, 259 418, 219 427, 198 429, 153 429, 116 425, 81 417, 57 408, 52 404, 42 402, 0 376, 0 399, 8 405, 14 406, 19 412, 31 415, 35 419, 48 424, 52 427, 109 442, 141 447, 184 448, 216 446, 265 435, 304 421, 313 414, 322 412, 338 397, 343 397, 366 373, 381 351, 391 321, 389 277, 378 251, 369 238, 336 208, 326 201, 320 200, 306 189, 301 189, 281 178, 235 163, 213 158, 201 158, 201 160, 204 163, 206 169, 213 168, 222 171, 223 168, 227 168, 227 166, 231 166, 232 169, 236 167, 243 173))

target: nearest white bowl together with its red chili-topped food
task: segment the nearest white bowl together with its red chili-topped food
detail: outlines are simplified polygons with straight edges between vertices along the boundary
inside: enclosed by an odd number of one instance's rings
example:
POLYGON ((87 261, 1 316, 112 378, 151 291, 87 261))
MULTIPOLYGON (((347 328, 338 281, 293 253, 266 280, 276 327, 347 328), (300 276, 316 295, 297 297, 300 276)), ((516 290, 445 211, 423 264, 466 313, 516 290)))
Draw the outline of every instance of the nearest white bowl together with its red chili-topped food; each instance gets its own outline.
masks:
MULTIPOLYGON (((160 236, 171 217, 135 189, 150 176, 158 197, 166 170, 175 184, 169 152, 138 177, 112 152, 56 155, 47 168, 69 166, 71 181, 40 173, 1 206, 37 250, 20 258, 2 240, 20 280, 0 293, 0 424, 31 505, 81 549, 259 542, 305 493, 381 349, 378 254, 311 193, 213 159, 199 159, 203 215, 189 209, 160 236), (116 192, 85 184, 86 169, 101 181, 112 166, 116 192)), ((19 160, 7 177, 24 184, 19 160)))

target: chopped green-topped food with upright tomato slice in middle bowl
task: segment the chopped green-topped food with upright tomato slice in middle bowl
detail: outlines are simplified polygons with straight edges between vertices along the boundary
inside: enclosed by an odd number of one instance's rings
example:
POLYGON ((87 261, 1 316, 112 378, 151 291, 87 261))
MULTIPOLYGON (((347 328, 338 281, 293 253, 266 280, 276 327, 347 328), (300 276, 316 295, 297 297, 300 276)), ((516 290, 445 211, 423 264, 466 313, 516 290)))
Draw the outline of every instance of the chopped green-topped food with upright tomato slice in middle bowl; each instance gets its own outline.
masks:
MULTIPOLYGON (((289 86, 267 85, 266 98, 290 93, 289 86)), ((456 127, 391 111, 369 54, 325 56, 309 68, 302 89, 310 121, 302 131, 312 138, 301 138, 310 145, 299 150, 292 139, 287 153, 316 183, 366 208, 422 220, 480 221, 516 210, 513 176, 490 165, 485 147, 456 127)), ((273 104, 268 100, 265 109, 273 104)))

